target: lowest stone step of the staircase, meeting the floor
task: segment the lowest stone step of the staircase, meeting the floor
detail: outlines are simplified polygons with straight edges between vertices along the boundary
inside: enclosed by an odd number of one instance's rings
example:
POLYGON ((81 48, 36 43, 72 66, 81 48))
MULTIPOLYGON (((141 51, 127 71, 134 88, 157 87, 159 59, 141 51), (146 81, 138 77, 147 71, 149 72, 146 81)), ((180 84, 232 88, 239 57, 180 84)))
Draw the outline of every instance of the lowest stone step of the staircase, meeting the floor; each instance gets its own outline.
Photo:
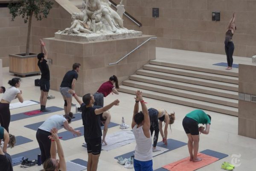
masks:
MULTIPOLYGON (((135 91, 137 91, 138 88, 135 87, 129 87, 126 85, 121 85, 119 91, 129 93, 129 94, 134 94, 135 91)), ((238 116, 238 108, 226 106, 226 105, 220 105, 220 104, 215 104, 215 103, 209 103, 209 102, 204 102, 200 100, 194 100, 194 99, 189 99, 185 97, 178 97, 170 94, 164 94, 160 92, 155 92, 155 91, 149 91, 145 89, 140 89, 143 91, 143 96, 144 97, 149 97, 157 100, 163 100, 171 103, 177 103, 180 105, 187 105, 191 106, 193 108, 201 108, 209 111, 215 111, 218 113, 223 113, 223 114, 229 114, 233 116, 238 116)))

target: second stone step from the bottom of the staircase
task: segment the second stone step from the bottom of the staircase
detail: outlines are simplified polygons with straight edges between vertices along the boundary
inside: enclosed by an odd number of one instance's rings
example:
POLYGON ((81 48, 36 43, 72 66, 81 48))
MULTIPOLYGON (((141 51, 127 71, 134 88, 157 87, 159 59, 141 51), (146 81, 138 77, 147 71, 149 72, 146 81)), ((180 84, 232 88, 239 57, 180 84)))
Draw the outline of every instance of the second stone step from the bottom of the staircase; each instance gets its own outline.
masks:
POLYGON ((198 92, 194 92, 194 91, 187 91, 187 90, 182 90, 182 89, 178 89, 178 88, 171 88, 171 87, 166 87, 163 85, 143 83, 143 82, 134 81, 134 80, 123 81, 122 85, 238 108, 238 100, 229 99, 226 97, 219 97, 219 96, 214 96, 214 95, 210 95, 210 94, 203 94, 203 93, 198 93, 198 92))

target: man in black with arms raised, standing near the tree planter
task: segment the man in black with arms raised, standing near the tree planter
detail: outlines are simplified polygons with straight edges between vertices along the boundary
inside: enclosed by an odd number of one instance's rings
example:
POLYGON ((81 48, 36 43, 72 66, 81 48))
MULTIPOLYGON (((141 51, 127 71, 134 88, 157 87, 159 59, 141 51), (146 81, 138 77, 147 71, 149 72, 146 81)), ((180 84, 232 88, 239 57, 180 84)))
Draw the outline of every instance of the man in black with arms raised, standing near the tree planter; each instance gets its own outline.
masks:
POLYGON ((45 47, 45 44, 42 39, 40 39, 40 45, 41 45, 41 53, 38 54, 38 67, 41 71, 41 79, 40 79, 40 90, 41 90, 41 96, 40 96, 40 105, 42 112, 47 112, 45 108, 46 102, 47 102, 47 95, 50 89, 50 71, 49 66, 47 64, 47 58, 48 58, 48 51, 45 47))

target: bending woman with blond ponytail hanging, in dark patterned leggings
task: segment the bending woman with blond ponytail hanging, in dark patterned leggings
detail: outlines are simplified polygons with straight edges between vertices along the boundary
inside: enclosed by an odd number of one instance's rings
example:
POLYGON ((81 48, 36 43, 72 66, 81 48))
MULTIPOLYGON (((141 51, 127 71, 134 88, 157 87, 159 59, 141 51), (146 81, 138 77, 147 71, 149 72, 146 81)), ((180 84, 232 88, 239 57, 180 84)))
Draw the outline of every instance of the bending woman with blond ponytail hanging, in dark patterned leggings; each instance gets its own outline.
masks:
POLYGON ((153 139, 154 140, 153 152, 155 152, 155 151, 159 151, 159 149, 156 148, 159 131, 160 131, 161 136, 163 137, 163 143, 165 145, 167 145, 167 135, 168 135, 167 129, 168 129, 168 125, 170 125, 170 128, 171 128, 171 124, 174 123, 175 112, 168 114, 167 111, 162 108, 160 108, 160 109, 149 108, 148 114, 149 114, 149 118, 150 118, 151 136, 153 135, 153 131, 155 131, 154 139, 153 139), (159 122, 158 122, 158 120, 159 120, 159 122), (163 131, 163 122, 165 123, 164 131, 163 131))

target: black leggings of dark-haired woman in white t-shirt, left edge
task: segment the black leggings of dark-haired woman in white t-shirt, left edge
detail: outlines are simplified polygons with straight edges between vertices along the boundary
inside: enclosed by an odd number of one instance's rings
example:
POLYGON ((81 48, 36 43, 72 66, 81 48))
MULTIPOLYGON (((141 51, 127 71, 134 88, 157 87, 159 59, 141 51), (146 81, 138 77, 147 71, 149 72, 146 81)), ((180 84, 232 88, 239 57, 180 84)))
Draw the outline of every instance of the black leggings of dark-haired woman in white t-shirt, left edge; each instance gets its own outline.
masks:
POLYGON ((9 133, 11 113, 9 103, 0 103, 0 125, 9 133))

